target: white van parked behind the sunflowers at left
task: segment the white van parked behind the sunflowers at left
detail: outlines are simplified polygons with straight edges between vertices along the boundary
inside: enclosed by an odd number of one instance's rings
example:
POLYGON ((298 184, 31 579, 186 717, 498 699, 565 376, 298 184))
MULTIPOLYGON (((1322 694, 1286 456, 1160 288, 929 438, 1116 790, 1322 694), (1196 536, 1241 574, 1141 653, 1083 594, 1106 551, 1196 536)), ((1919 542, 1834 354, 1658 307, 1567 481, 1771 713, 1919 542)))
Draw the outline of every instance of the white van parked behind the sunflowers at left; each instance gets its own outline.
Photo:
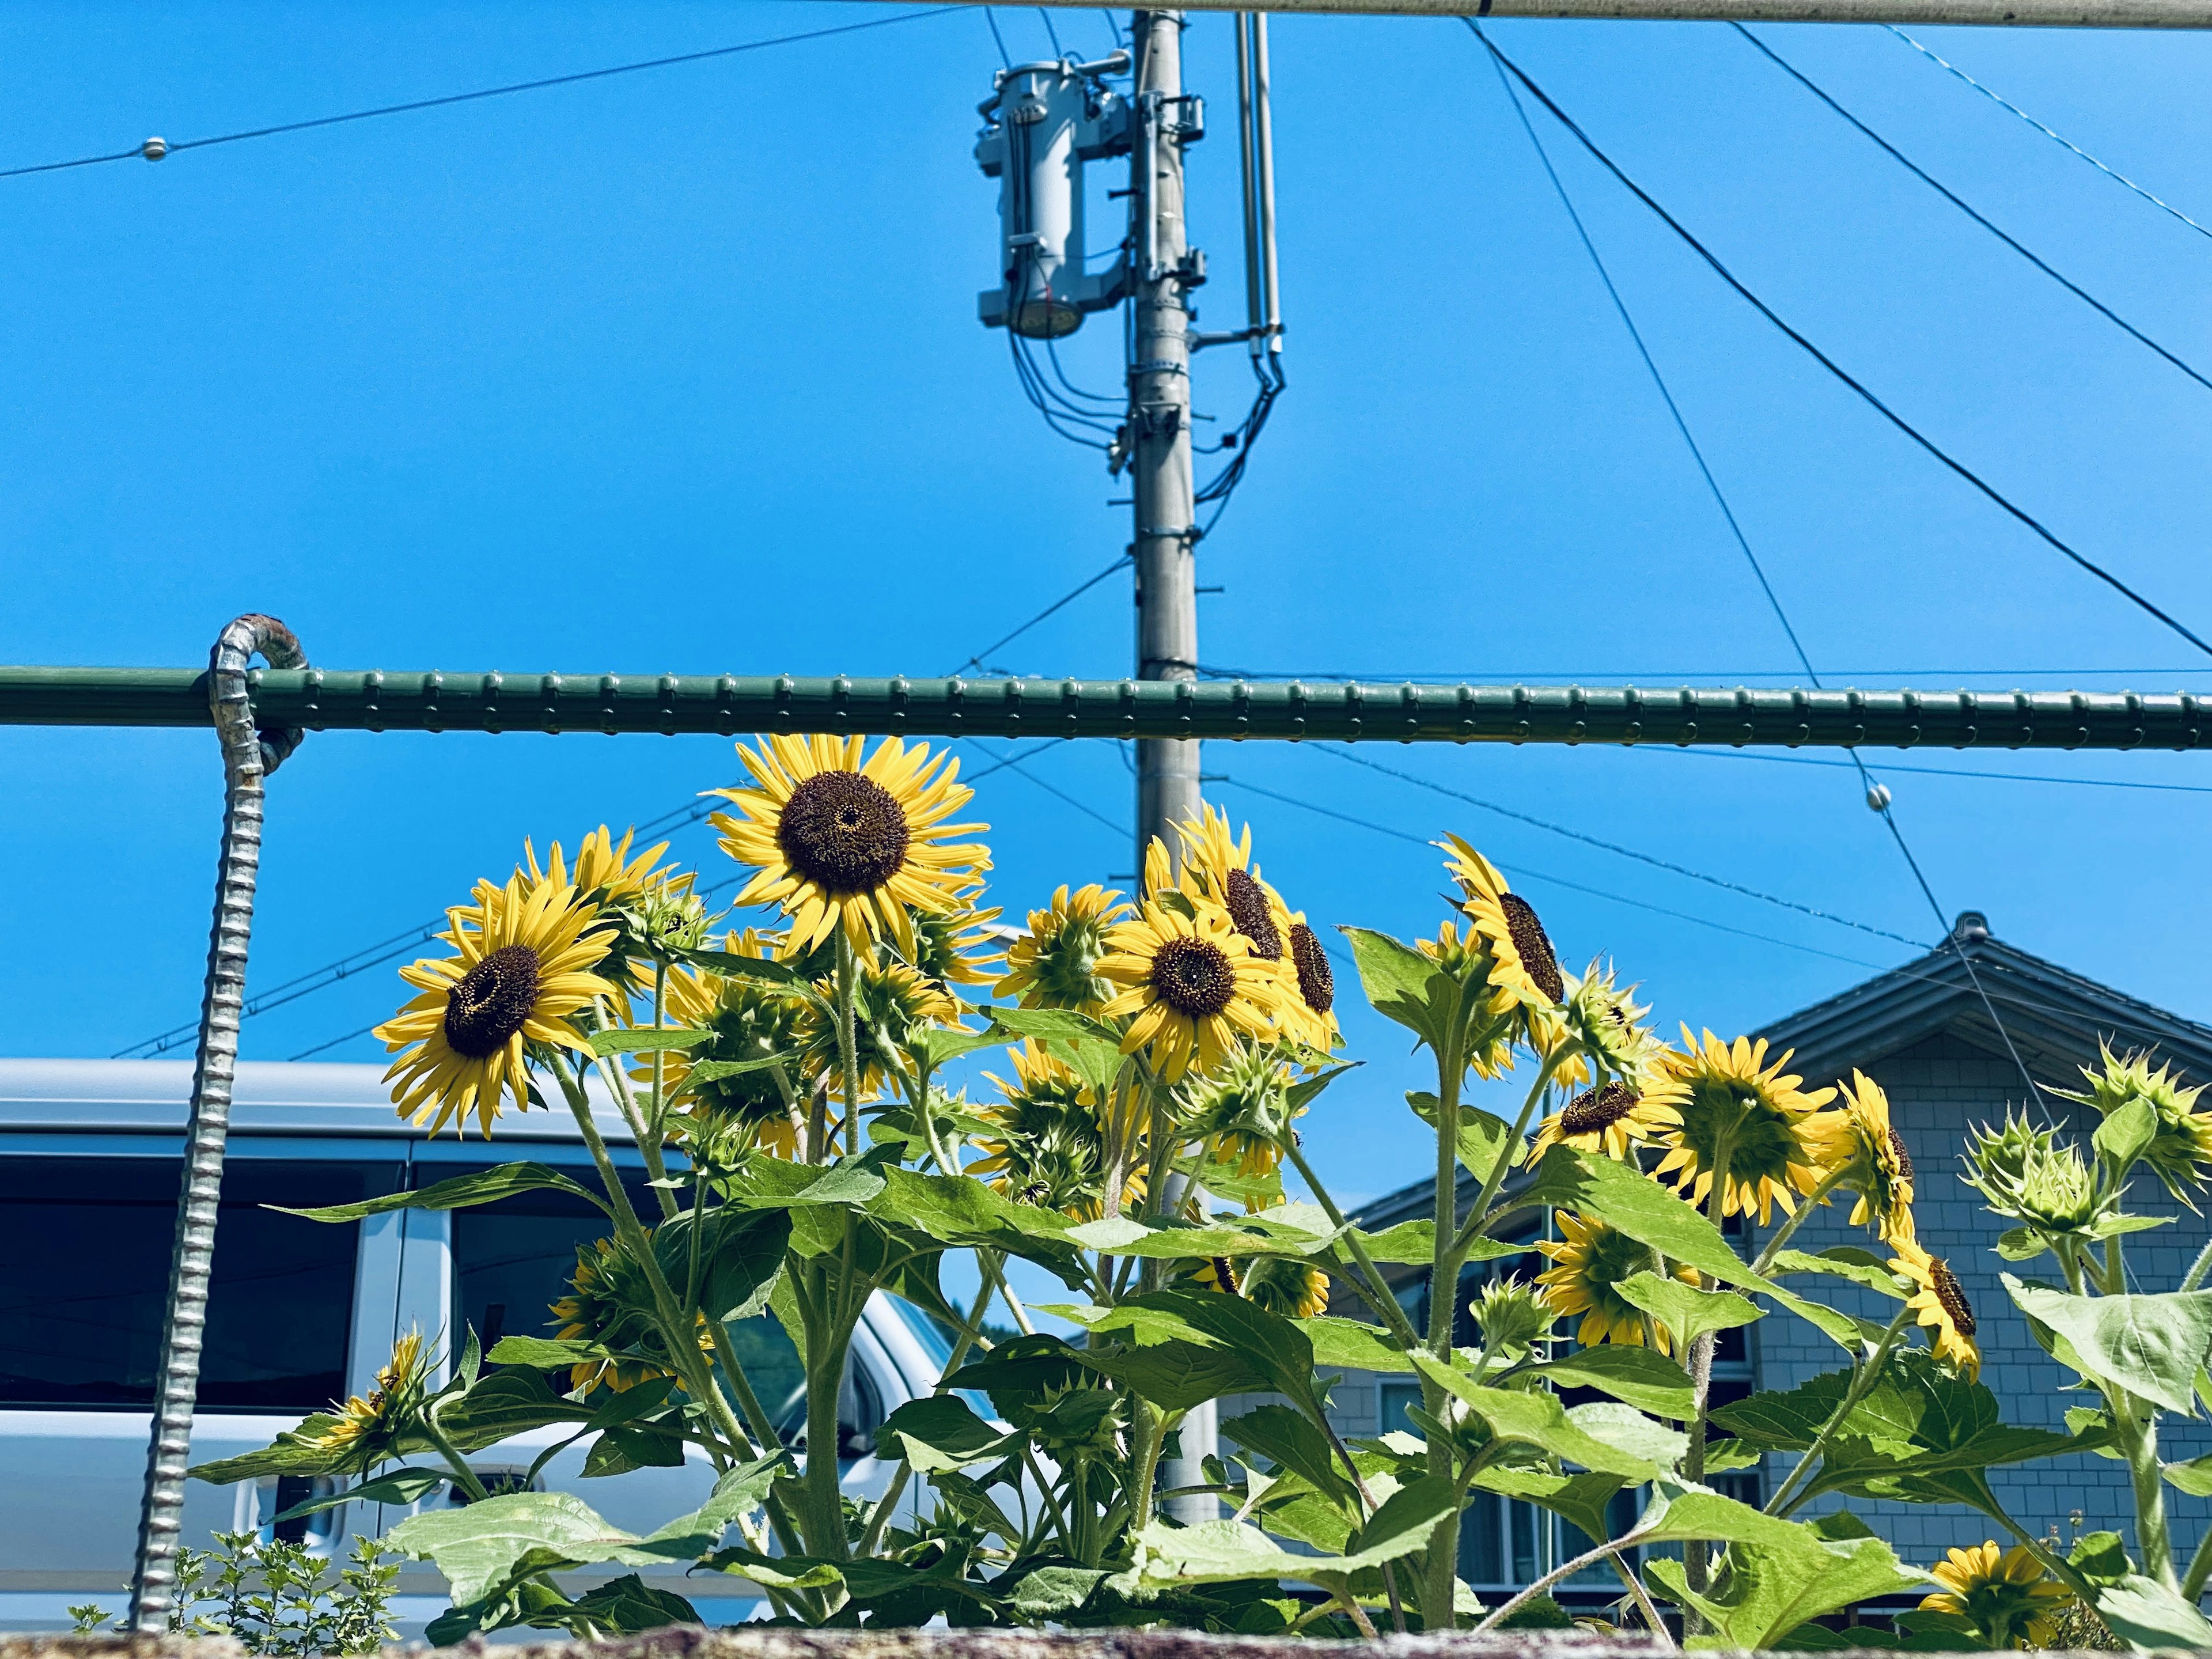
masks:
MULTIPOLYGON (((77 1601, 124 1608, 190 1073, 184 1060, 0 1060, 0 1630, 66 1630, 77 1601)), ((367 1394, 407 1329, 440 1349, 462 1325, 484 1347, 502 1334, 551 1336, 549 1303, 575 1270, 575 1248, 604 1232, 597 1210, 557 1192, 352 1225, 263 1208, 352 1203, 513 1159, 577 1166, 591 1183, 591 1157, 566 1115, 502 1117, 491 1141, 431 1139, 394 1115, 380 1077, 380 1066, 239 1066, 192 1462, 265 1447, 307 1411, 367 1394)), ((650 1212, 639 1157, 619 1144, 626 1130, 613 1110, 599 1133, 617 1164, 637 1168, 633 1197, 650 1212)), ((790 1338, 770 1316, 750 1321, 743 1338, 763 1405, 796 1429, 803 1387, 790 1338)), ((929 1394, 947 1358, 927 1318, 891 1296, 874 1298, 838 1413, 847 1493, 883 1493, 891 1467, 876 1460, 874 1431, 929 1394)), ((557 1429, 518 1436, 469 1462, 498 1489, 557 1438, 557 1429)), ((575 1491, 628 1531, 695 1509, 712 1486, 703 1460, 582 1480, 586 1451, 582 1442, 553 1458, 540 1484, 575 1491)), ((206 1548, 215 1531, 268 1535, 274 1515, 310 1495, 312 1482, 294 1478, 228 1489, 195 1480, 184 1542, 206 1548)), ((451 1502, 451 1491, 422 1502, 451 1502)), ((343 1555, 352 1535, 378 1535, 403 1513, 343 1504, 281 1531, 343 1555)), ((573 1582, 588 1586, 595 1575, 573 1582)), ((710 1624, 759 1606, 739 1582, 728 1584, 739 1597, 717 1597, 723 1582, 714 1577, 648 1582, 690 1597, 710 1624)), ((409 1562, 394 1601, 403 1635, 420 1635, 442 1608, 445 1582, 409 1562)))

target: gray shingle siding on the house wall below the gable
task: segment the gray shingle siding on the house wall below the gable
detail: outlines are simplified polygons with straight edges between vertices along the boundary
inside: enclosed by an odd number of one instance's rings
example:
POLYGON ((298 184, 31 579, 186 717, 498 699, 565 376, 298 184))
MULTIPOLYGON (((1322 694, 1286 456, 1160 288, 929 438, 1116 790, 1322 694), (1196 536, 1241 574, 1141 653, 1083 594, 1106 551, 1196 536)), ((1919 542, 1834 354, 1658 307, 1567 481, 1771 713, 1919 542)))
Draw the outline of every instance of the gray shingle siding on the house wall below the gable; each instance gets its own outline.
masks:
MULTIPOLYGON (((2002 1121, 2006 1106, 2017 1106, 2026 1097, 2020 1068, 2008 1055, 1991 1053, 1944 1031, 1900 1048, 1867 1071, 1889 1095, 1891 1121, 1913 1159, 1918 1192, 1913 1212, 1920 1243, 1951 1263, 1951 1272, 1958 1274, 1973 1305, 1982 1380, 2002 1402, 2006 1422, 2064 1433, 2066 1409, 2097 1405, 2097 1396, 2068 1391, 2073 1371, 2037 1347, 2026 1318, 2013 1307, 1997 1279, 2006 1270, 2022 1279, 2048 1279, 2055 1276, 2057 1267, 2051 1256, 2033 1263, 2000 1259, 1995 1245, 2008 1223, 1982 1210, 1980 1194, 1960 1181, 1960 1155, 1966 1148, 1969 1128, 2002 1121)), ((2064 1108, 2062 1126, 2086 1150, 2097 1115, 2088 1106, 2051 1095, 2048 1079, 2039 1077, 2037 1082, 2044 1084, 2053 1113, 2064 1108)), ((2148 1172, 2137 1175, 2128 1208, 2139 1214, 2172 1217, 2172 1225, 2139 1232, 2126 1241, 2132 1287, 2143 1292, 2174 1290, 2212 1237, 2212 1225, 2174 1203, 2148 1172)), ((1871 1245, 1867 1228, 1847 1223, 1849 1212, 1849 1201, 1816 1212, 1798 1228, 1792 1245, 1809 1252, 1845 1243, 1871 1245)), ((1823 1301, 1882 1323, 1896 1307, 1896 1303, 1840 1279, 1798 1279, 1794 1285, 1816 1287, 1823 1301)), ((1752 1334, 1761 1389, 1792 1389, 1845 1363, 1834 1343, 1790 1314, 1776 1312, 1759 1321, 1752 1334)), ((2212 1451, 2212 1427, 2203 1420, 2168 1416, 2161 1429, 2161 1453, 2168 1462, 2212 1451)), ((1787 1473, 1790 1462, 1790 1458, 1767 1460, 1767 1491, 1787 1473)), ((2081 1531, 2108 1528, 2132 1537, 2135 1506, 2128 1495, 2128 1471, 2119 1460, 2075 1455, 1991 1469, 1989 1484, 2013 1520, 2037 1537, 2057 1528, 2057 1535, 2068 1540, 2075 1513, 2081 1515, 2081 1531)), ((1995 1522, 1953 1504, 1896 1504, 1829 1495, 1809 1504, 1807 1513, 1845 1506, 1887 1537, 1909 1562, 1936 1562, 1953 1544, 1980 1544, 1995 1533, 1995 1522)), ((2185 1564, 2208 1517, 2212 1517, 2212 1504, 2168 1489, 2168 1513, 2174 1524, 2174 1546, 2185 1564)))

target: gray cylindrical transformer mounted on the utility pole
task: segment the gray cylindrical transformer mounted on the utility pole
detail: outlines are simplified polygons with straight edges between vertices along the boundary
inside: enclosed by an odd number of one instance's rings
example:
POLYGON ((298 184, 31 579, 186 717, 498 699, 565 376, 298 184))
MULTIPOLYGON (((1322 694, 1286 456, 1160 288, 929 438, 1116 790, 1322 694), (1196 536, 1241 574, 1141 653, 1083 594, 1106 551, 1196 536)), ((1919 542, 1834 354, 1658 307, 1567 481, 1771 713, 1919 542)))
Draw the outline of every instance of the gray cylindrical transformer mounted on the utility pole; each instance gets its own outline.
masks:
POLYGON ((1128 155, 1135 119, 1106 75, 1128 71, 1128 53, 1095 64, 1062 58, 1002 69, 978 104, 984 128, 975 164, 998 179, 1000 283, 975 296, 984 327, 1057 341, 1084 312, 1128 299, 1128 252, 1084 272, 1084 161, 1128 155))

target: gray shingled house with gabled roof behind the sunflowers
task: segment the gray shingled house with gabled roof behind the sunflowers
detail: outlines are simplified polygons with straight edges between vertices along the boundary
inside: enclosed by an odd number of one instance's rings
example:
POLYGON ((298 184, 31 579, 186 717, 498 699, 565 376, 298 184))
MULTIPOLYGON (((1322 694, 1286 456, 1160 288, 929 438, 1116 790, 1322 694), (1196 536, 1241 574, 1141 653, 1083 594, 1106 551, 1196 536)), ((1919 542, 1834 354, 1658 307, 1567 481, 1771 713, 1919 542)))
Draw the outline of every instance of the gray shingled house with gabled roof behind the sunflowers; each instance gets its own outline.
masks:
MULTIPOLYGON (((1765 1035, 1776 1051, 1794 1048, 1796 1060, 1790 1068, 1809 1086, 1847 1077, 1858 1066, 1887 1091, 1893 1121, 1918 1172, 1920 1241, 1951 1261, 1973 1298, 1982 1378, 2004 1400, 2008 1420, 2064 1431, 2066 1407, 2084 1400, 2079 1394, 2062 1391, 2070 1374, 2035 1345, 2022 1314, 1997 1283, 2000 1270, 2006 1267, 1995 1254, 2004 1223, 1984 1214, 1978 1194, 1958 1179, 1966 1130, 1973 1124, 2000 1121, 2008 1106, 2033 1104, 2026 1082, 2033 1075, 2044 1110, 2055 1121, 2070 1121, 2086 1144, 2095 1113, 2051 1091, 2079 1086, 2079 1068, 2097 1060, 2099 1040, 2112 1048, 2154 1048, 2190 1082, 2208 1082, 2212 1029, 2004 945, 1991 936, 1982 914, 1966 911, 1933 953, 1776 1020, 1759 1035, 1765 1035)), ((1464 1175, 1462 1199, 1473 1199, 1473 1181, 1464 1175)), ((1365 1206, 1358 1219, 1360 1225, 1378 1230, 1427 1217, 1431 1203, 1433 1186, 1420 1181, 1365 1206)), ((2130 1263, 2143 1290, 2172 1290, 2212 1237, 2212 1223, 2172 1203, 2150 1177, 2137 1181, 2132 1208, 2174 1217, 2172 1225, 2128 1241, 2130 1263)), ((1792 1243, 1803 1250, 1869 1243, 1863 1228, 1845 1225, 1847 1214, 1849 1206, 1818 1212, 1792 1243)), ((1528 1259, 1491 1265, 1491 1272, 1513 1270, 1531 1272, 1528 1259)), ((1480 1272, 1471 1270, 1467 1290, 1480 1281, 1480 1272)), ((1411 1267, 1405 1274, 1400 1301, 1409 1310, 1425 1310, 1425 1274, 1411 1267)), ((1858 1292, 1840 1281, 1820 1281, 1820 1287, 1845 1305, 1854 1294, 1865 1296, 1867 1305, 1851 1312, 1876 1312, 1874 1292, 1858 1292)), ((1460 1305, 1464 1303, 1462 1292, 1460 1305)), ((1356 1305, 1338 1312, 1356 1312, 1356 1305)), ((1473 1332, 1469 1329, 1462 1340, 1473 1340, 1473 1332)), ((1774 1314, 1743 1332, 1725 1334, 1714 1360, 1714 1398, 1796 1387, 1818 1371, 1836 1369, 1840 1358, 1838 1349, 1809 1325, 1774 1314), (1728 1338, 1734 1338, 1734 1347, 1728 1338)), ((1420 1389, 1409 1378, 1354 1374, 1336 1387, 1338 1427, 1345 1433, 1407 1427, 1405 1407, 1418 1400, 1420 1389)), ((2208 1425, 2174 1420, 2168 1425, 2161 1440, 2168 1460, 2212 1451, 2208 1425)), ((1787 1467, 1787 1460, 1770 1458, 1772 1462, 1787 1467)), ((1778 1469, 1756 1469, 1723 1475, 1721 1482, 1732 1482, 1739 1498, 1759 1502, 1778 1478, 1778 1469)), ((1991 1473, 1991 1484, 2022 1526, 2037 1535, 2057 1528, 2068 1537, 2075 1517, 2084 1531, 2099 1526, 2126 1531, 2128 1524, 2126 1467, 2115 1460, 2077 1455, 1997 1469, 1991 1473)), ((1816 1509, 1834 1502, 1825 1500, 1816 1509)), ((2177 1546, 2183 1553, 2192 1551, 2205 1522, 2212 1520, 2212 1502, 2181 1493, 2168 1493, 2168 1502, 2174 1511, 2177 1546)), ((1940 1559, 1951 1544, 1978 1544, 1991 1533, 1991 1522, 1969 1509, 1922 1504, 1854 1504, 1854 1509, 1889 1537, 1900 1555, 1922 1564, 1940 1559)), ((1526 1584, 1548 1564, 1582 1548, 1559 1537, 1562 1526, 1528 1504, 1478 1498, 1462 1528, 1462 1573, 1480 1590, 1526 1584)), ((1613 1599, 1617 1588, 1610 1573, 1599 1573, 1590 1577, 1584 1595, 1613 1599)))

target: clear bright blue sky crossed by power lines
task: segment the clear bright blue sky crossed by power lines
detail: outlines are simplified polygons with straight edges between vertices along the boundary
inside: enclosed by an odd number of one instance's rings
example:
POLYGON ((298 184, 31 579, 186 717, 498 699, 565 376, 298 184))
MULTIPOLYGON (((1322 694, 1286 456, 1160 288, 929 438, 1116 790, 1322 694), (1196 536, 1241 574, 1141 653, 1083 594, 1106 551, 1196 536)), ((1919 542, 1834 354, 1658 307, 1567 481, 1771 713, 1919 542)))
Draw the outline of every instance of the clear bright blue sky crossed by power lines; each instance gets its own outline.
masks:
MULTIPOLYGON (((896 13, 22 7, 0 18, 0 168, 867 15, 896 13)), ((1075 51, 1110 44, 1104 13, 1055 22, 1075 51)), ((1037 11, 1000 27, 1018 58, 1046 55, 1037 11)), ((1520 22, 1495 38, 1907 418, 2212 624, 2212 394, 1723 27, 1520 22)), ((2203 237, 1880 29, 1765 38, 2137 327, 2212 361, 2203 237)), ((2212 221, 2205 40, 1929 44, 2212 221)), ((1201 655, 1261 672, 1787 681, 1790 646, 1467 31, 1290 18, 1274 58, 1292 389, 1201 549, 1201 582, 1225 588, 1201 599, 1201 655)), ((195 664, 257 608, 325 666, 942 672, 1128 533, 1097 458, 1042 429, 1004 338, 973 321, 995 215, 969 148, 995 64, 964 11, 159 166, 0 179, 0 657, 195 664)), ((1214 270, 1203 325, 1237 325, 1225 18, 1192 22, 1188 77, 1214 104, 1190 164, 1214 270)), ((1825 675, 2205 684, 2183 641, 1913 451, 1537 122, 1825 675)), ((1095 226, 1095 246, 1110 239, 1095 226)), ((1066 361, 1110 387, 1119 332, 1093 321, 1066 361)), ((1245 389, 1239 356, 1201 358, 1201 411, 1234 420, 1245 389)), ((1121 577, 1093 588, 995 661, 1124 672, 1126 595, 1121 577)), ((1847 770, 1360 754, 1865 927, 1323 752, 1210 748, 1214 799, 1256 825, 1267 876, 1323 925, 1433 929, 1442 883, 1420 841, 1458 830, 1526 872, 1515 883, 1562 956, 1613 956, 1666 1029, 1719 1031, 1907 960, 1891 933, 1933 933, 1847 770)), ((2170 754, 1902 763, 2212 785, 2170 754)), ((106 1055, 190 1020, 221 807, 212 737, 4 730, 0 765, 15 801, 0 852, 33 894, 0 962, 18 1011, 4 1051, 106 1055)), ((1026 765, 1035 781, 980 783, 998 902, 1133 869, 1115 748, 1048 745, 1026 765)), ((312 737, 272 785, 252 984, 436 916, 526 834, 573 841, 730 776, 719 739, 312 737)), ((2208 894, 2190 874, 2201 794, 1882 776, 1947 911, 1982 907, 2024 949, 2212 1018, 2208 894)), ((701 830, 677 847, 717 860, 701 830)), ((250 1020, 243 1053, 290 1057, 398 991, 378 967, 250 1020)), ((1389 1029, 1347 1024, 1371 1064, 1323 1102, 1310 1144, 1345 1194, 1380 1192, 1422 1175, 1396 1104, 1420 1075, 1389 1029)))

